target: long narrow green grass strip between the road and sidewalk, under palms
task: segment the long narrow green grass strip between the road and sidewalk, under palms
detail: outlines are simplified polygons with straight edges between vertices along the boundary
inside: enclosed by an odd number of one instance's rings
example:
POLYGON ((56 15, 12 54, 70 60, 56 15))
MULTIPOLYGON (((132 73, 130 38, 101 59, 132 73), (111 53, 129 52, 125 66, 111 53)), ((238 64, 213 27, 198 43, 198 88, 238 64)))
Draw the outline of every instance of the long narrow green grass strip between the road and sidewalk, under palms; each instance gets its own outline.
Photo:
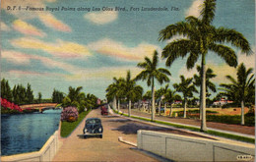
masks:
MULTIPOLYGON (((116 110, 113 110, 113 111, 116 114, 120 114, 122 116, 128 117, 127 114, 120 113, 120 112, 118 113, 116 110)), ((171 127, 175 127, 175 128, 179 128, 179 129, 186 129, 186 130, 190 130, 190 131, 194 131, 194 132, 200 132, 200 129, 194 128, 194 127, 176 125, 176 124, 163 122, 163 121, 151 121, 151 119, 143 118, 143 117, 136 117, 136 116, 131 116, 130 118, 139 119, 139 120, 143 120, 143 121, 147 121, 147 122, 153 122, 153 123, 166 125, 166 126, 171 126, 171 127)), ((217 135, 217 136, 222 136, 222 137, 226 137, 226 138, 229 138, 229 139, 235 139, 235 140, 240 140, 240 141, 245 141, 245 142, 250 142, 250 143, 255 142, 254 138, 250 138, 250 137, 246 137, 246 136, 230 135, 230 134, 220 133, 220 132, 216 132, 216 131, 207 131, 207 132, 204 132, 204 133, 208 134, 208 135, 217 135)))

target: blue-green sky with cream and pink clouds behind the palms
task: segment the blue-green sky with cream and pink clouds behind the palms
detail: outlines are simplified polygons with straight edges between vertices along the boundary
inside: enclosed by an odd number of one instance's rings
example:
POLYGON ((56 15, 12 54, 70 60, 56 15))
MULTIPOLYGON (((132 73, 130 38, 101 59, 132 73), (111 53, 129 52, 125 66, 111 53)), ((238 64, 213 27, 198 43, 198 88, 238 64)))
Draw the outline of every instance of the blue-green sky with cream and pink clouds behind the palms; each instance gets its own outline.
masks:
MULTIPOLYGON (((128 70, 134 78, 140 73, 136 65, 145 56, 167 42, 158 41, 160 29, 183 21, 189 15, 198 16, 202 0, 5 0, 1 2, 1 78, 17 83, 32 84, 33 94, 51 97, 53 88, 65 93, 69 86, 83 86, 86 93, 99 98, 113 77, 125 77, 128 70), (18 10, 7 10, 14 6, 18 10), (44 11, 19 10, 43 8, 44 11), (59 11, 45 11, 46 7, 59 11), (75 11, 64 11, 75 8, 75 11), (77 8, 91 11, 78 11, 77 8), (125 7, 126 11, 102 11, 103 8, 125 7), (166 7, 168 11, 141 11, 141 8, 166 7), (171 11, 171 7, 178 11, 171 11), (99 8, 100 11, 92 11, 99 8), (140 11, 130 9, 139 8, 140 11)), ((234 28, 249 40, 255 51, 255 1, 217 1, 216 27, 234 28)), ((246 57, 237 52, 238 63, 255 67, 255 54, 246 57)), ((187 71, 185 59, 178 59, 168 70, 170 84, 179 82, 179 76, 192 77, 196 70, 187 71)), ((218 75, 213 81, 225 82, 224 76, 235 75, 213 53, 207 57, 208 67, 218 75)), ((199 64, 199 63, 198 63, 199 64)), ((160 60, 160 67, 164 60, 160 60)), ((150 87, 139 81, 145 88, 150 87)), ((160 84, 157 84, 157 89, 160 84)), ((164 86, 164 84, 162 84, 164 86)), ((172 88, 172 86, 170 86, 172 88)))

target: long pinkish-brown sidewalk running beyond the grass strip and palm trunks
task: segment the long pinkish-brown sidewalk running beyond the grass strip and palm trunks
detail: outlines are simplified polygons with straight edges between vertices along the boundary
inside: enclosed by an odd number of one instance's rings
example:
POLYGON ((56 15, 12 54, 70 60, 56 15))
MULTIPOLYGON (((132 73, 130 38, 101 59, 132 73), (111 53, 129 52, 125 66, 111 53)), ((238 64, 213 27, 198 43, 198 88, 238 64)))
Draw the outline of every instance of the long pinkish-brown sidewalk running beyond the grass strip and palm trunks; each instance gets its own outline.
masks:
MULTIPOLYGON (((121 109, 121 111, 125 114, 128 114, 127 109, 121 109)), ((139 112, 138 110, 134 110, 134 109, 132 109, 131 115, 151 119, 151 114, 139 112)), ((168 123, 176 124, 176 125, 199 128, 199 129, 200 129, 200 125, 201 125, 200 120, 195 120, 195 119, 170 118, 170 117, 166 117, 166 116, 156 115, 156 120, 161 121, 161 122, 168 122, 168 123)), ((221 132, 221 133, 230 134, 230 135, 239 135, 239 136, 255 138, 255 127, 247 127, 247 126, 240 126, 240 125, 227 125, 227 124, 216 123, 216 122, 207 122, 207 127, 208 127, 208 130, 210 130, 210 131, 216 131, 216 132, 221 132)))

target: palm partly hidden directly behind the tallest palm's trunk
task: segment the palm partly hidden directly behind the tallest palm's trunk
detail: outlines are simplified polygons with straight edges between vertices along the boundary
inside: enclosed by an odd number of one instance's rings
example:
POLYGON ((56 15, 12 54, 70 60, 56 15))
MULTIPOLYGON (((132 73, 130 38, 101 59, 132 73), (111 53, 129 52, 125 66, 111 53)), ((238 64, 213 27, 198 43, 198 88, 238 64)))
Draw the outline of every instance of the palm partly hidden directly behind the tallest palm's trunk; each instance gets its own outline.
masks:
MULTIPOLYGON (((197 72, 199 73, 198 75, 194 75, 194 84, 196 86, 200 86, 201 83, 201 67, 197 66, 197 72)), ((214 74, 214 71, 211 68, 208 68, 206 71, 206 96, 209 97, 211 94, 209 93, 209 89, 211 89, 213 92, 216 92, 216 85, 210 81, 211 79, 216 78, 216 75, 214 74)), ((202 92, 200 92, 200 95, 202 94, 202 92)), ((200 99, 202 99, 202 97, 200 97, 200 99)), ((201 103, 201 102, 200 102, 201 103)), ((200 120, 202 120, 202 106, 200 105, 200 120)))

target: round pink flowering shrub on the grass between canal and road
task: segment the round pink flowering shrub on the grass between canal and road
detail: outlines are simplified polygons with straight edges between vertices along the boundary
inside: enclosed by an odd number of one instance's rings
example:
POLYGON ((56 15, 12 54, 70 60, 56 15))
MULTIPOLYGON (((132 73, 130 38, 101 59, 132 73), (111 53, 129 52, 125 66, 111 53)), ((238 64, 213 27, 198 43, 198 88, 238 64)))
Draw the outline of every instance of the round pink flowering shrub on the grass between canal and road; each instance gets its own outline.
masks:
POLYGON ((78 109, 73 106, 64 108, 61 112, 61 121, 74 122, 78 120, 78 109))

